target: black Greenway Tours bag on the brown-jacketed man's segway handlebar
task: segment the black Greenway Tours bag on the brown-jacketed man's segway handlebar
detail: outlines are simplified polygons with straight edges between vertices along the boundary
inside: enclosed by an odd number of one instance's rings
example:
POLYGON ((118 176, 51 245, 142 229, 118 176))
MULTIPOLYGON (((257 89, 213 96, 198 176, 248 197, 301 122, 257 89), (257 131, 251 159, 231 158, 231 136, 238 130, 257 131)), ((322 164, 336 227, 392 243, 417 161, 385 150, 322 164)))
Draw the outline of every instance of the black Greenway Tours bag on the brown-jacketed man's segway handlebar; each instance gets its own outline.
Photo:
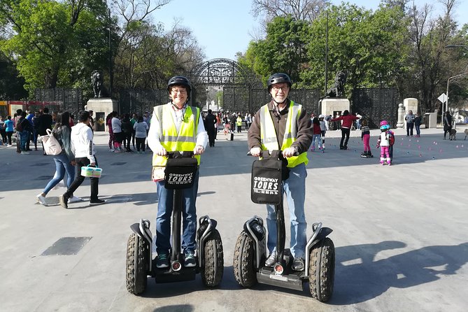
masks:
POLYGON ((281 204, 283 197, 283 171, 287 170, 287 162, 280 159, 281 154, 275 150, 268 155, 268 150, 262 153, 262 159, 254 160, 252 164, 252 185, 250 198, 255 204, 281 204), (265 153, 266 152, 266 153, 265 153))

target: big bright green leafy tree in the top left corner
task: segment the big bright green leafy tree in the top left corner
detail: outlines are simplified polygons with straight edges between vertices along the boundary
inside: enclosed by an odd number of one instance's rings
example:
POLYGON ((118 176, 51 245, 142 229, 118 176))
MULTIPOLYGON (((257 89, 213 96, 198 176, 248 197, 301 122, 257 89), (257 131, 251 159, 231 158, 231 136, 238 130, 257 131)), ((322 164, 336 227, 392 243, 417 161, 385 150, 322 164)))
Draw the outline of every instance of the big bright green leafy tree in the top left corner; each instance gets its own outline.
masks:
POLYGON ((71 87, 89 80, 90 63, 104 58, 91 59, 106 51, 105 16, 102 0, 4 0, 0 25, 8 37, 0 48, 15 62, 29 92, 71 87))

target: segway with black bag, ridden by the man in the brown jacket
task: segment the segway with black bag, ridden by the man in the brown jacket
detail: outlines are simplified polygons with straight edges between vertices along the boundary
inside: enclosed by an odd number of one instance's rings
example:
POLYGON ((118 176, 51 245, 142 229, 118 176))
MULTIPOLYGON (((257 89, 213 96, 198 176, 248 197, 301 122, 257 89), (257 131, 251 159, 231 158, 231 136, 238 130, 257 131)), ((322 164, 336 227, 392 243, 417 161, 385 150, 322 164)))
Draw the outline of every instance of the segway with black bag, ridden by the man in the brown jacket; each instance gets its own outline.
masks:
MULTIPOLYGON (((268 152, 268 151, 266 151, 268 152)), ((267 259, 267 232, 263 220, 255 215, 244 225, 234 249, 234 276, 239 285, 250 288, 256 283, 275 285, 292 290, 303 290, 309 282, 313 298, 327 302, 332 296, 334 285, 334 244, 327 236, 332 232, 322 223, 313 223, 313 234, 306 244, 304 271, 292 270, 293 257, 285 248, 285 220, 283 211, 283 185, 285 159, 281 151, 269 157, 264 153, 262 160, 252 166, 251 199, 256 204, 274 204, 276 212, 276 259, 273 267, 264 265, 267 259)))

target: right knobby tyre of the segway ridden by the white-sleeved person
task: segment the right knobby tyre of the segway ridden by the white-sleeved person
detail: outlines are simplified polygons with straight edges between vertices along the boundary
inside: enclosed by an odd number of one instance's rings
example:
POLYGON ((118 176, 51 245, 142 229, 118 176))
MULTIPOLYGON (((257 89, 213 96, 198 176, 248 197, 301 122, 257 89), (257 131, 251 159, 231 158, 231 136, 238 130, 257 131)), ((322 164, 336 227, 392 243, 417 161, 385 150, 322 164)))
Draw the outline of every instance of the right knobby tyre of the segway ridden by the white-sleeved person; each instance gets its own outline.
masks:
POLYGON ((201 281, 206 287, 215 287, 221 283, 225 260, 222 252, 222 241, 217 229, 208 236, 204 246, 204 267, 201 281))

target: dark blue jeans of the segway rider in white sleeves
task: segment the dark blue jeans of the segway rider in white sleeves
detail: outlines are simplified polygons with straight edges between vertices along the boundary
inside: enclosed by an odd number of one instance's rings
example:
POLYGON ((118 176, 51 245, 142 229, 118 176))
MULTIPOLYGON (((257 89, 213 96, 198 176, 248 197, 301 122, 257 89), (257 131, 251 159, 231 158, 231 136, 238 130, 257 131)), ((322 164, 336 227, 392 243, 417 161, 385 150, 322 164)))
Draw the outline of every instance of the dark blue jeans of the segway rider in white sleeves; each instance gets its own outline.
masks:
MULTIPOLYGON (((195 232, 197 231, 197 201, 199 173, 195 174, 192 187, 182 190, 185 205, 182 207, 182 249, 187 252, 194 252, 197 248, 195 242, 195 232)), ((169 253, 171 249, 171 215, 173 192, 164 187, 164 180, 157 184, 157 217, 156 217, 156 252, 169 253)), ((176 250, 178 251, 178 250, 176 250)))

